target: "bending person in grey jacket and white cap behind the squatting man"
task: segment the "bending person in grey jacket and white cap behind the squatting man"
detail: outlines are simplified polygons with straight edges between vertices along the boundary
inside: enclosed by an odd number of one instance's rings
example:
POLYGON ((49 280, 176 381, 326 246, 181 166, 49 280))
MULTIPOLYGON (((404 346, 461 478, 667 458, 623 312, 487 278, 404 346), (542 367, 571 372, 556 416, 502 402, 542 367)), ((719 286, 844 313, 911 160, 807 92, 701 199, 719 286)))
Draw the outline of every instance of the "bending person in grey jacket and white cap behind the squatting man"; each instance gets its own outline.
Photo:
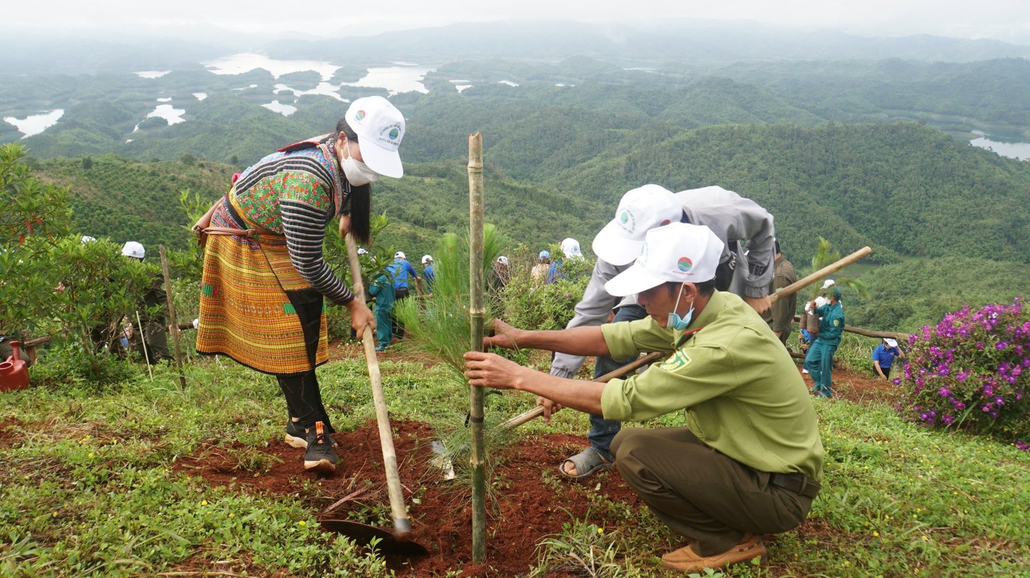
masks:
MULTIPOLYGON (((597 262, 583 298, 576 305, 575 315, 565 328, 599 326, 613 310, 615 315, 611 322, 646 316, 633 296, 612 296, 605 290, 605 283, 628 269, 641 254, 648 231, 681 222, 707 225, 722 240, 723 249, 716 267, 716 288, 741 292, 737 295, 756 310, 762 307, 767 309, 772 256, 776 252, 772 215, 754 201, 720 186, 673 194, 663 186, 645 184, 622 196, 615 217, 594 237, 593 252, 597 262), (741 251, 735 239, 747 239, 749 256, 730 252, 730 246, 741 251)), ((600 356, 594 366, 594 378, 632 361, 632 358, 600 356)), ((551 362, 551 375, 572 378, 579 373, 584 362, 582 355, 558 353, 551 362)), ((541 399, 538 403, 547 405, 550 402, 541 399)), ((590 445, 566 458, 559 471, 566 477, 580 479, 610 469, 613 457, 609 447, 620 428, 618 421, 590 415, 590 432, 587 434, 590 445)))

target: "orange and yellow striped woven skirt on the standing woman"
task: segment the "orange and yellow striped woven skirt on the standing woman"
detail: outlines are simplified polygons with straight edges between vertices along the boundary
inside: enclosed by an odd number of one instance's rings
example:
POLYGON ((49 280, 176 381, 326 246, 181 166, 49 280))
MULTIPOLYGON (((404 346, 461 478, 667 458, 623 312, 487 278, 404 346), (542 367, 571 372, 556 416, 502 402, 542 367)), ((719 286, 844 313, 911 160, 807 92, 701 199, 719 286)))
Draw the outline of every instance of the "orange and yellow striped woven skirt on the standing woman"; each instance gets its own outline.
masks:
MULTIPOLYGON (((230 198, 212 227, 248 227, 230 198)), ((197 351, 288 375, 329 361, 324 300, 289 262, 279 235, 209 235, 204 248, 197 351)))

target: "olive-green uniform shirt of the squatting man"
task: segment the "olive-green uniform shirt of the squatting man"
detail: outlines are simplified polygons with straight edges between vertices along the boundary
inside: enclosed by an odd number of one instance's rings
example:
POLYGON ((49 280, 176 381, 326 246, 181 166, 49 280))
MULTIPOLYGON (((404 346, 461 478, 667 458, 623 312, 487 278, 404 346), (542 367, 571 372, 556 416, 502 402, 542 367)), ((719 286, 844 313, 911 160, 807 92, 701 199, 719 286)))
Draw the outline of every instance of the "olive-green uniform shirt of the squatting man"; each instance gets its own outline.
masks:
POLYGON ((640 421, 679 409, 701 441, 763 472, 822 478, 823 446, 804 381, 783 344, 740 297, 715 292, 683 332, 653 318, 602 326, 614 359, 673 352, 600 398, 606 419, 640 421))

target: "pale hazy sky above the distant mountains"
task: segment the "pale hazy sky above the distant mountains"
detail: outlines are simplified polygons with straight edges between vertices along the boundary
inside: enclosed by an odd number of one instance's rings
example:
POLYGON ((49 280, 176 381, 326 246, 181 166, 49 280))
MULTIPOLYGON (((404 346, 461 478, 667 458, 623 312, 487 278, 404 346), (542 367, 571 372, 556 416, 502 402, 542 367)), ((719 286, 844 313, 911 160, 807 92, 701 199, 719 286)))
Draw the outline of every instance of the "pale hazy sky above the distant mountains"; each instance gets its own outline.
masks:
POLYGON ((928 33, 1030 43, 1030 0, 19 0, 5 4, 0 8, 5 28, 52 32, 203 25, 241 32, 299 31, 327 36, 511 18, 586 22, 683 18, 746 20, 858 34, 928 33), (335 12, 331 11, 334 7, 335 12))

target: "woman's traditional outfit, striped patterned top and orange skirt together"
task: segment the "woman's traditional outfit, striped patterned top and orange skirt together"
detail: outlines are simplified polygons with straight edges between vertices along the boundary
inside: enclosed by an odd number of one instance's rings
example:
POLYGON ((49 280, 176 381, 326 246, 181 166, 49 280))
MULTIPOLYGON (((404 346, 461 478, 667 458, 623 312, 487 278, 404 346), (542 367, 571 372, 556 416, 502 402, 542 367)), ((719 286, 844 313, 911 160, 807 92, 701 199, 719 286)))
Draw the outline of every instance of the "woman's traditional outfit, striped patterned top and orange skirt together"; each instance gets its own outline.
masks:
POLYGON ((322 259, 325 226, 350 193, 334 142, 323 137, 265 157, 219 202, 211 227, 269 234, 208 237, 199 352, 275 375, 329 360, 322 298, 339 305, 353 299, 322 259))

